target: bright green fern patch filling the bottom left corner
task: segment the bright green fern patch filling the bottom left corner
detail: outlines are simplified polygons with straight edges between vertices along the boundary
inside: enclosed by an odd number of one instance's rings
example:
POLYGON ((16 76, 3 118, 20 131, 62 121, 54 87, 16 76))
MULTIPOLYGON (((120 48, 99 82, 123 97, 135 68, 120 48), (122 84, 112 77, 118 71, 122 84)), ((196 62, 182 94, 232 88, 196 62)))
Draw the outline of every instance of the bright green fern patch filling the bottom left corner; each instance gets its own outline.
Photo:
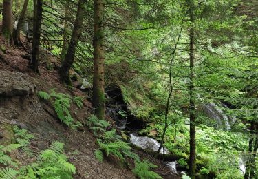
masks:
POLYGON ((73 178, 76 167, 67 162, 64 153, 64 144, 54 142, 49 149, 34 153, 30 149, 30 140, 34 136, 25 129, 14 127, 17 143, 10 145, 0 145, 0 164, 4 167, 0 169, 0 178, 73 178), (10 156, 12 151, 22 149, 30 158, 36 158, 28 165, 21 165, 21 161, 13 160, 10 156))

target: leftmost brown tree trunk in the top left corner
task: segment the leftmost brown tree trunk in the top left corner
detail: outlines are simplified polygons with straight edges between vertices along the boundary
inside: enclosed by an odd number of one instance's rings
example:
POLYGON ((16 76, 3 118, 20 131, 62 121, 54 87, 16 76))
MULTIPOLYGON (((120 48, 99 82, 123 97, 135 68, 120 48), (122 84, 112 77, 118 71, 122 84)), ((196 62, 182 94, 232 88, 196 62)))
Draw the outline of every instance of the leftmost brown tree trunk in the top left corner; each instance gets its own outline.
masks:
POLYGON ((13 30, 13 17, 12 17, 12 0, 3 0, 3 26, 2 32, 8 43, 13 43, 12 30, 13 30))

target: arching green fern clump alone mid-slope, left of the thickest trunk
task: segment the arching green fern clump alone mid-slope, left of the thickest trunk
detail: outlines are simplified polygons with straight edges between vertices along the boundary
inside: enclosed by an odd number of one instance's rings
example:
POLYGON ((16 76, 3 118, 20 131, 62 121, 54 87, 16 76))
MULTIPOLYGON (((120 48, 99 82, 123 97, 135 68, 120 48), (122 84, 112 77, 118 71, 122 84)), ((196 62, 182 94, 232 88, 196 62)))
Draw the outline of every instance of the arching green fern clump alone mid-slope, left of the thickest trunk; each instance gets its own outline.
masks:
POLYGON ((50 94, 47 92, 38 92, 40 98, 48 101, 51 99, 54 110, 58 118, 65 123, 65 125, 76 129, 76 127, 81 126, 77 121, 74 121, 72 115, 70 114, 69 108, 70 103, 73 101, 80 109, 83 107, 83 97, 76 96, 72 98, 68 94, 56 93, 55 89, 50 90, 50 94))

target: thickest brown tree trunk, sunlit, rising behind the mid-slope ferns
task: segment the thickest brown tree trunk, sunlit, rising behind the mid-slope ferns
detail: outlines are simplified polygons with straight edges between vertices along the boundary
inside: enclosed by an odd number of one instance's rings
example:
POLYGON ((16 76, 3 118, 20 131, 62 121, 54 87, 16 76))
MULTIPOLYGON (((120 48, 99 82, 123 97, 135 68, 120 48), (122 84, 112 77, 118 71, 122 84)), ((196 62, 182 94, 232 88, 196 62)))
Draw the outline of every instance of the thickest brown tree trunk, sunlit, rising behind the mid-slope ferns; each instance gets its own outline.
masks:
POLYGON ((103 0, 94 0, 94 77, 92 103, 94 113, 100 119, 105 118, 103 20, 103 0))

